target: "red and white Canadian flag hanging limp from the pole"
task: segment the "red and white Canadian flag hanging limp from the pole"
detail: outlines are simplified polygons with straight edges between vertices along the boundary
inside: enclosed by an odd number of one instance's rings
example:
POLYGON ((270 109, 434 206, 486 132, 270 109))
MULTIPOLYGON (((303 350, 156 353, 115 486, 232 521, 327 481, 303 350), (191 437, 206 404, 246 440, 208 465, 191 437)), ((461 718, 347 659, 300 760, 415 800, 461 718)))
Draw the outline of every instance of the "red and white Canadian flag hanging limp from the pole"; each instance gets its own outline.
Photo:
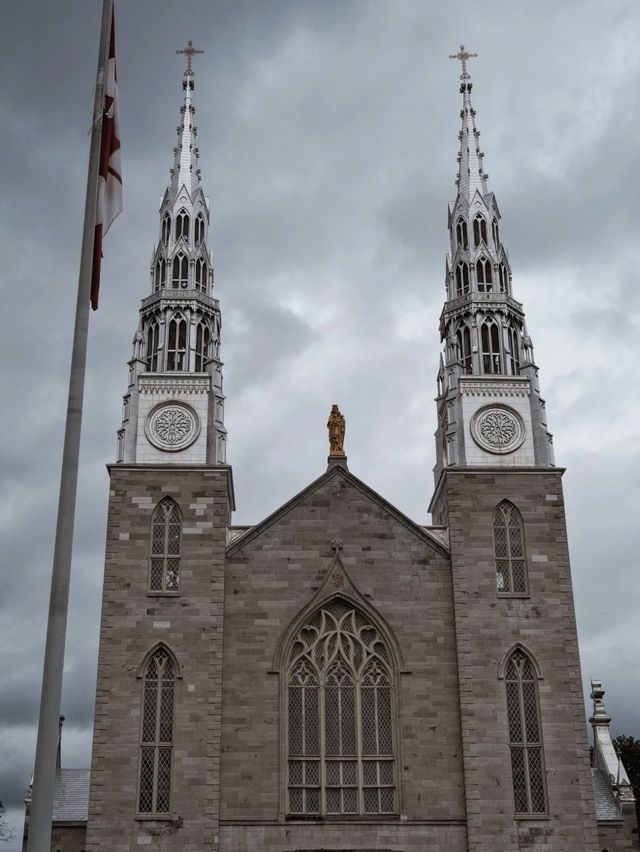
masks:
POLYGON ((105 66, 102 139, 98 164, 98 200, 93 241, 91 307, 98 309, 102 240, 122 210, 122 169, 120 166, 120 122, 118 119, 118 78, 116 75, 115 16, 111 15, 109 55, 105 66))

